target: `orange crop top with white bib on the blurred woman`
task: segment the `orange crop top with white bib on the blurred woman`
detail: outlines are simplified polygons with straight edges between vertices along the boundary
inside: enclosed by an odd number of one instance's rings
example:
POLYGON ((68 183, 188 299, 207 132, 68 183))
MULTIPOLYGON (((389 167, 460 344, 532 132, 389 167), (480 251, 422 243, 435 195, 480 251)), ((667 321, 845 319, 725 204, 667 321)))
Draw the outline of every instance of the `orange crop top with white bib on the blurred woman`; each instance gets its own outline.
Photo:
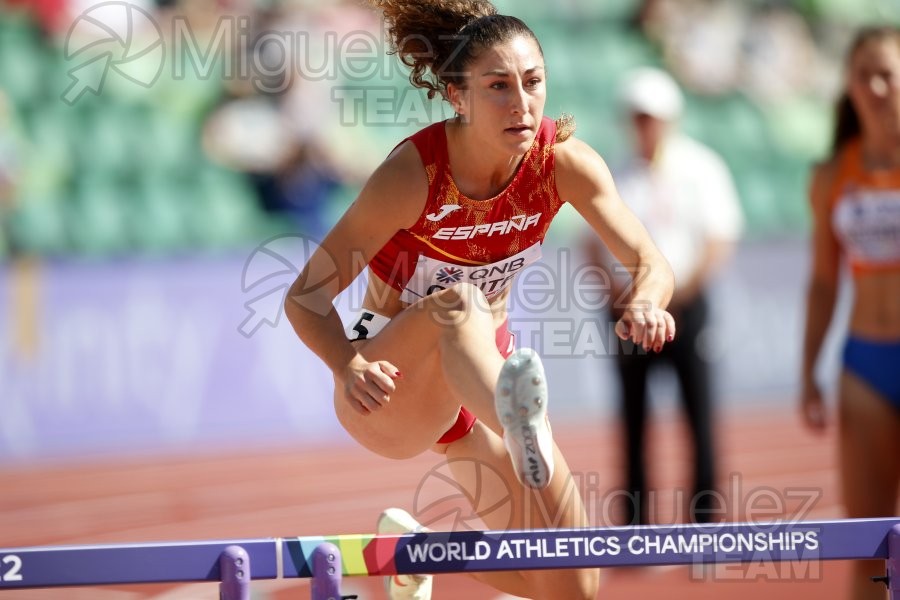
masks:
POLYGON ((838 157, 832 228, 854 275, 900 269, 900 169, 866 169, 862 142, 838 157))

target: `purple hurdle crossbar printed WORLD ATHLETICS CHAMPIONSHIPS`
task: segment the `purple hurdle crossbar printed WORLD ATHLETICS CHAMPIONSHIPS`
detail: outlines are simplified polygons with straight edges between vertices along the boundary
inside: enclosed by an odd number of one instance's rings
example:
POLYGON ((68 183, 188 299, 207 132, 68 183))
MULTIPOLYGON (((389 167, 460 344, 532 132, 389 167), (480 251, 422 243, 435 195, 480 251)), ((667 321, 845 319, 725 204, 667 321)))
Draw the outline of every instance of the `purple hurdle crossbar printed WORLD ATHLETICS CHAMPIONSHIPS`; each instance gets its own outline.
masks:
POLYGON ((218 582, 249 600, 251 581, 308 578, 312 600, 348 600, 352 576, 862 559, 885 561, 873 585, 900 600, 900 517, 9 548, 0 592, 218 582))

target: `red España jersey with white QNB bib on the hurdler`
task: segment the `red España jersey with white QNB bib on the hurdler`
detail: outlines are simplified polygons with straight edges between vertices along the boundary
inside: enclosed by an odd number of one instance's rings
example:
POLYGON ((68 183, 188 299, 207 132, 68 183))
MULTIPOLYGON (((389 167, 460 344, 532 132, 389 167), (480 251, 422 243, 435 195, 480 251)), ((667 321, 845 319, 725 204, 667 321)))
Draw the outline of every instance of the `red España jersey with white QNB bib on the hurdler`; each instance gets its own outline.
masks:
POLYGON ((408 139, 425 165, 428 200, 418 221, 398 231, 369 267, 407 303, 460 282, 496 296, 540 259, 541 243, 562 206, 554 172, 556 123, 544 117, 512 182, 487 200, 457 189, 444 122, 408 139))

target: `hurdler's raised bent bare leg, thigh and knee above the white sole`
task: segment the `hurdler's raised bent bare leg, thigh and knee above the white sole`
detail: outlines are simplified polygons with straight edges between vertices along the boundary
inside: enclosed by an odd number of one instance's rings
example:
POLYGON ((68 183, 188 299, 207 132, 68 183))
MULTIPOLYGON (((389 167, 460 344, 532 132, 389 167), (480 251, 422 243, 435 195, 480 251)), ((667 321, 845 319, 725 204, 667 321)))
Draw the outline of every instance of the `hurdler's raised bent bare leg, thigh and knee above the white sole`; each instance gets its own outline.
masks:
POLYGON ((494 431, 494 388, 503 357, 482 292, 460 284, 432 294, 394 317, 370 340, 358 342, 368 360, 387 360, 402 373, 391 401, 361 415, 336 390, 335 410, 347 431, 370 450, 408 458, 430 448, 456 421, 465 403, 494 431))

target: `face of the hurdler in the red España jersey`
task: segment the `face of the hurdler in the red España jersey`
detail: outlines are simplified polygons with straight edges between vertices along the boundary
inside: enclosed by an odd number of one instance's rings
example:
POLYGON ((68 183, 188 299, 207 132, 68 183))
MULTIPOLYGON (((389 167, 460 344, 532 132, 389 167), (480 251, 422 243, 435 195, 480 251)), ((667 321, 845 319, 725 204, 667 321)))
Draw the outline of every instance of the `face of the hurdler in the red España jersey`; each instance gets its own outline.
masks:
POLYGON ((451 86, 450 102, 483 143, 521 155, 544 116, 545 80, 537 43, 518 36, 484 50, 468 67, 466 87, 451 86))

